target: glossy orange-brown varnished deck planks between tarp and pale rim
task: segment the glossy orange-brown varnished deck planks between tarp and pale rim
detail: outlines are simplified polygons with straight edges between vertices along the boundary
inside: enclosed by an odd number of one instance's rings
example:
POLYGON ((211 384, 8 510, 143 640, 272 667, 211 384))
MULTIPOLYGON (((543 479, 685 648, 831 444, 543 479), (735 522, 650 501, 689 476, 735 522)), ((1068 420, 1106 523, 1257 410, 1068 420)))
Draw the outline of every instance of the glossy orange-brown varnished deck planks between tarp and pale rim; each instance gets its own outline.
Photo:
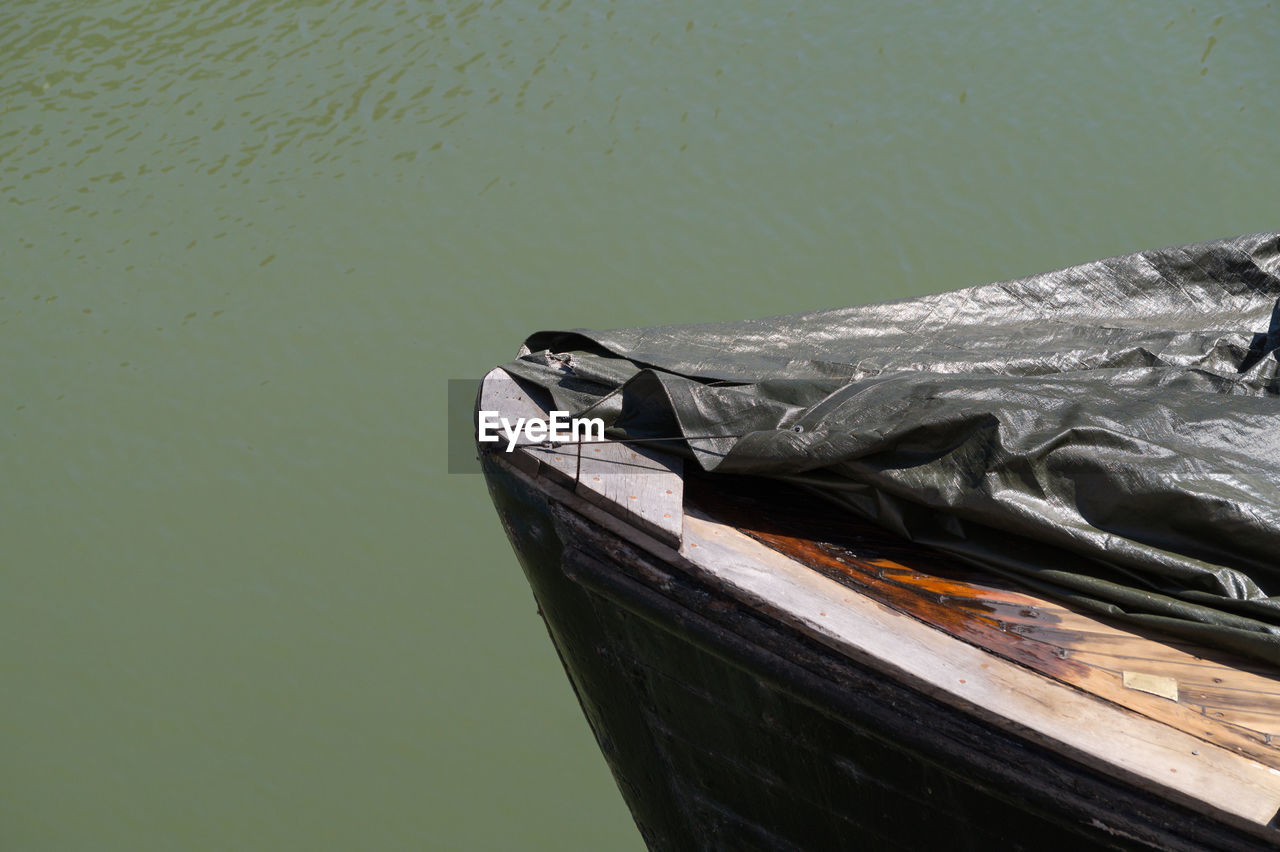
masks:
POLYGON ((858 523, 808 495, 695 499, 763 544, 957 638, 1280 769, 1280 673, 1076 613, 858 523), (1125 686, 1171 678, 1176 698, 1125 686), (1138 678, 1140 682, 1142 678, 1138 678))

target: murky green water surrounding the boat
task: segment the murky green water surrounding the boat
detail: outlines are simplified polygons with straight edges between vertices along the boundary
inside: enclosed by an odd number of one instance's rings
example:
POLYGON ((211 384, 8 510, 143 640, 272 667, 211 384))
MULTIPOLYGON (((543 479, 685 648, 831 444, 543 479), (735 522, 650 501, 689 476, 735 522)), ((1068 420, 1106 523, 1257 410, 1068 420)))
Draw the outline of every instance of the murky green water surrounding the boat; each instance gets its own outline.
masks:
POLYGON ((0 6, 0 848, 639 834, 445 380, 1276 226, 1271 4, 0 6))

